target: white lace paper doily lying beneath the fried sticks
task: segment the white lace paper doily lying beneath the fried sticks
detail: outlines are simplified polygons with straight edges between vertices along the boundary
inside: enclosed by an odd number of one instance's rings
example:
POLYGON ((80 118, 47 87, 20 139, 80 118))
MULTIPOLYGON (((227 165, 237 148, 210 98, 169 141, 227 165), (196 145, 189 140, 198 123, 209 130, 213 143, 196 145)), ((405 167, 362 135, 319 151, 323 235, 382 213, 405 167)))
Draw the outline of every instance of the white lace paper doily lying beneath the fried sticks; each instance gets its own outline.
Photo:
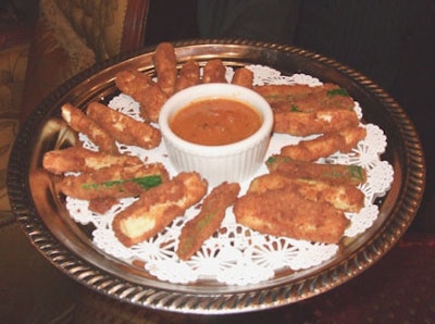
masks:
MULTIPOLYGON (((281 75, 278 71, 261 65, 247 66, 254 73, 254 84, 306 84, 318 86, 322 83, 309 75, 295 74, 281 75)), ((227 70, 231 77, 232 68, 227 70)), ((119 110, 134 119, 140 120, 139 105, 130 97, 120 95, 113 98, 109 107, 119 110)), ((355 105, 358 116, 362 117, 362 110, 358 102, 355 105)), ((361 124, 366 128, 368 136, 348 154, 335 153, 320 163, 358 164, 366 169, 368 182, 360 186, 365 195, 364 208, 359 213, 347 213, 350 226, 345 236, 355 237, 372 226, 377 219, 378 208, 375 199, 384 196, 393 183, 393 167, 387 161, 381 159, 387 145, 384 132, 373 124, 361 124)), ((96 150, 97 148, 84 135, 79 139, 84 146, 96 150)), ((297 144, 302 138, 274 134, 266 158, 278 153, 284 145, 297 144)), ((164 144, 152 150, 119 145, 121 152, 135 154, 144 162, 162 162, 171 175, 176 172, 165 152, 164 144)), ((268 173, 265 165, 261 166, 254 176, 268 173)), ((248 189, 250 180, 241 183, 240 195, 248 189)), ((226 211, 225 219, 217 233, 210 237, 202 248, 188 261, 178 260, 175 250, 178 236, 184 224, 194 217, 198 210, 195 207, 187 210, 156 237, 137 244, 130 248, 123 246, 115 237, 112 229, 112 220, 123 209, 135 201, 135 198, 120 200, 105 214, 92 213, 88 202, 66 198, 66 208, 75 222, 86 225, 92 224, 94 244, 103 252, 124 260, 144 264, 144 269, 160 281, 174 284, 191 283, 199 279, 212 279, 227 285, 256 284, 272 278, 283 269, 301 271, 334 257, 338 245, 315 244, 296 240, 286 237, 262 235, 237 224, 232 209, 226 211)))

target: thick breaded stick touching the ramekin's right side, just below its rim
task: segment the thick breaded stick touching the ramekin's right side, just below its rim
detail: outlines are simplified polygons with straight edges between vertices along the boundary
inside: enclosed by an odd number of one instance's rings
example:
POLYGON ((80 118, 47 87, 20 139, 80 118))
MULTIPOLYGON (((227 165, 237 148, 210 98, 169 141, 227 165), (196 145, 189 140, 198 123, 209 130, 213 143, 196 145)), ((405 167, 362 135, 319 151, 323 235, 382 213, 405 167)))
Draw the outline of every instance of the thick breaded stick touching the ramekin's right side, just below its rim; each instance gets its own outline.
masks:
POLYGON ((323 109, 314 112, 273 110, 273 130, 295 136, 330 134, 359 125, 355 111, 344 109, 323 109))

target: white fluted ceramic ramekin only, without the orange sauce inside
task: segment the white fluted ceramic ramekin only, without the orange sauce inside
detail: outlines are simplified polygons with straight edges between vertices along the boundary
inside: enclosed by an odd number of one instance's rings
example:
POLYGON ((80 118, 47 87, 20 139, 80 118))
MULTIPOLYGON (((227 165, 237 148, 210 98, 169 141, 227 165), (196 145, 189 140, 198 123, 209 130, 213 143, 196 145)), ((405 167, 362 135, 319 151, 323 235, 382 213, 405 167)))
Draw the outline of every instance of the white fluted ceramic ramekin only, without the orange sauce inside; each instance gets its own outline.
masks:
POLYGON ((264 163, 273 114, 264 98, 251 89, 232 84, 203 84, 172 96, 160 112, 159 126, 175 170, 197 171, 210 186, 216 186, 223 182, 243 182, 264 163), (212 98, 233 99, 250 105, 259 112, 262 119, 261 127, 244 140, 222 146, 192 144, 171 130, 170 121, 179 109, 191 102, 212 98))

